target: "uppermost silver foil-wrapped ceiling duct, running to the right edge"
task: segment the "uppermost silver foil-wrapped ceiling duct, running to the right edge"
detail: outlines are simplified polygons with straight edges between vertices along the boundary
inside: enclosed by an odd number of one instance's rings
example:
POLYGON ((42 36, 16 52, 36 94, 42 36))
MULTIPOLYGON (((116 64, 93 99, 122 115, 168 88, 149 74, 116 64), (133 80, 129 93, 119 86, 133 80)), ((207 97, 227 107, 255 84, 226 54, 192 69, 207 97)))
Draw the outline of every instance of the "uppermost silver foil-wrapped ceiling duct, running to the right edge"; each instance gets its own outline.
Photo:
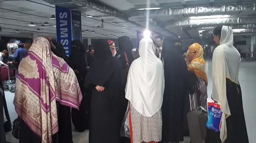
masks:
MULTIPOLYGON (((177 18, 186 18, 191 16, 210 16, 210 15, 240 15, 256 14, 256 2, 241 4, 222 4, 214 6, 193 6, 186 8, 164 8, 150 10, 150 18, 156 20, 170 20, 177 18)), ((136 10, 130 14, 129 20, 140 21, 145 19, 146 10, 136 10)))

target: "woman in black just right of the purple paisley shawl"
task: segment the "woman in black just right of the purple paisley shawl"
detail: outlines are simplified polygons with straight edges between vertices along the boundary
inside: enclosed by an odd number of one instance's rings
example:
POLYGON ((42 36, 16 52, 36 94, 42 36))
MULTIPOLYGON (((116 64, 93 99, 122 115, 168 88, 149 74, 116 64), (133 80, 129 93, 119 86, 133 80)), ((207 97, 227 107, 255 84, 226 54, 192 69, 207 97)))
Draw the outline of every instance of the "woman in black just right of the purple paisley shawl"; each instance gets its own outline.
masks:
POLYGON ((86 100, 88 100, 88 102, 90 101, 90 95, 86 94, 86 90, 83 86, 87 72, 86 67, 88 67, 85 58, 85 51, 86 49, 84 48, 84 45, 81 41, 72 41, 69 61, 72 65, 72 69, 76 73, 76 77, 78 79, 78 83, 83 95, 83 100, 81 102, 79 110, 73 108, 71 110, 72 122, 76 128, 76 131, 78 132, 83 132, 88 129, 88 111, 86 110, 86 100))

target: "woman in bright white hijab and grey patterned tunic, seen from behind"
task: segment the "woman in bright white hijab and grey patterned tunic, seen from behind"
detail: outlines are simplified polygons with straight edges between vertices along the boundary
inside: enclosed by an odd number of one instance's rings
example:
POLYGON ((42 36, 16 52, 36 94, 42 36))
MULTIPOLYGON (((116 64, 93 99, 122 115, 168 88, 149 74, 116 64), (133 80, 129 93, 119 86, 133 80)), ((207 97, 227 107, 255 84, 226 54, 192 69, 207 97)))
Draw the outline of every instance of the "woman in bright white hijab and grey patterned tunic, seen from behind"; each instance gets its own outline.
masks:
POLYGON ((140 57, 132 62, 126 84, 131 143, 159 142, 162 139, 161 106, 164 94, 164 68, 155 55, 152 39, 140 41, 140 57))

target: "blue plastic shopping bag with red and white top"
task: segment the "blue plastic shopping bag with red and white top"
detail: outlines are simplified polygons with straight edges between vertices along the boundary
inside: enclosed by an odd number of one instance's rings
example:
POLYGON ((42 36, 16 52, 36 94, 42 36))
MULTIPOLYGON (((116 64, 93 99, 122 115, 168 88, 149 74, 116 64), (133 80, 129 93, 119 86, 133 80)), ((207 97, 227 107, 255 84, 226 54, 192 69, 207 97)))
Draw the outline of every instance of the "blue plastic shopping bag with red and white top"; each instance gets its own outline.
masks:
POLYGON ((208 120, 206 127, 213 131, 220 131, 222 111, 220 110, 220 104, 215 103, 211 98, 207 98, 208 106, 208 120))

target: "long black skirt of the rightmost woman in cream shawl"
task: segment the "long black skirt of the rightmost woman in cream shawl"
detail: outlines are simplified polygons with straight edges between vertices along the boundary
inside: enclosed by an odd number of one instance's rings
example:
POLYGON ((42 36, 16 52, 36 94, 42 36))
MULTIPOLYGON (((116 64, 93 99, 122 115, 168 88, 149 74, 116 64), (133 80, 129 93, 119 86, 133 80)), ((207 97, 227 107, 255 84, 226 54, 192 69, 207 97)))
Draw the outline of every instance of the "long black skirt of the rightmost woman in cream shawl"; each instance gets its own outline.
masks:
MULTIPOLYGON (((228 137, 225 143, 249 143, 241 87, 239 84, 226 79, 226 88, 231 116, 226 119, 228 137)), ((220 132, 208 129, 205 143, 221 143, 220 132)))

